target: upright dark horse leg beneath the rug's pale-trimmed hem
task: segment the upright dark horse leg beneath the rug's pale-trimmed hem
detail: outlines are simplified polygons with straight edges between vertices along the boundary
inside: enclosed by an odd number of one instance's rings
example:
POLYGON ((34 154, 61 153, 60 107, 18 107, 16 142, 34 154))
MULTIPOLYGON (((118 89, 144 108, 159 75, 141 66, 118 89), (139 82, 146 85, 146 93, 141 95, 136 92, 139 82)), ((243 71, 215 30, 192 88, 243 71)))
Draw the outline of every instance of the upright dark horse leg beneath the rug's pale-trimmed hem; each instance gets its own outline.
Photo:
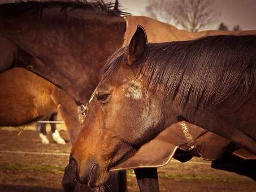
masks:
POLYGON ((134 173, 141 192, 159 191, 157 168, 134 169, 134 173))

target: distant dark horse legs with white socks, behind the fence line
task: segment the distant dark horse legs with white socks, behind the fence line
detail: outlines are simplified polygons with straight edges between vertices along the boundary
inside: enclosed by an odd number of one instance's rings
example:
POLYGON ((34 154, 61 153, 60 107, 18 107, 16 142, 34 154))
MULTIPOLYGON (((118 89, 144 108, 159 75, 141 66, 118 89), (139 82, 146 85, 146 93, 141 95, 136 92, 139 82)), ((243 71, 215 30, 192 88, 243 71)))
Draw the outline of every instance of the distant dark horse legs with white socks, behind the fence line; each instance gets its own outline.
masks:
MULTIPOLYGON (((46 117, 42 118, 41 121, 56 121, 57 120, 57 115, 58 115, 57 112, 54 112, 50 116, 46 116, 46 117)), ((47 138, 46 124, 47 123, 45 123, 45 122, 37 123, 38 129, 39 129, 39 132, 40 132, 39 137, 40 137, 41 142, 43 144, 49 144, 50 143, 49 139, 47 138)), ((51 126, 51 133, 52 133, 52 136, 53 136, 53 140, 55 142, 57 142, 58 144, 65 145, 66 142, 60 136, 59 131, 56 127, 56 124, 55 123, 50 123, 50 126, 51 126)))

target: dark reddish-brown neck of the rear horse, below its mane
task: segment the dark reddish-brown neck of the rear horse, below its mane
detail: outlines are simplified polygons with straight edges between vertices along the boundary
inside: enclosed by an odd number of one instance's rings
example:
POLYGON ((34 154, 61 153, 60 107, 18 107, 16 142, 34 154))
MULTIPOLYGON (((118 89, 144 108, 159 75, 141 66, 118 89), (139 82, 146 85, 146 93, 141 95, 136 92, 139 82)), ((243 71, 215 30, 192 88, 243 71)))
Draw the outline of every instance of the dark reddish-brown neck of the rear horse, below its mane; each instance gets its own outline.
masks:
POLYGON ((42 18, 32 14, 0 18, 2 36, 17 46, 14 66, 27 68, 77 103, 86 103, 105 60, 123 44, 125 21, 99 12, 83 12, 80 17, 47 14, 45 10, 42 18))

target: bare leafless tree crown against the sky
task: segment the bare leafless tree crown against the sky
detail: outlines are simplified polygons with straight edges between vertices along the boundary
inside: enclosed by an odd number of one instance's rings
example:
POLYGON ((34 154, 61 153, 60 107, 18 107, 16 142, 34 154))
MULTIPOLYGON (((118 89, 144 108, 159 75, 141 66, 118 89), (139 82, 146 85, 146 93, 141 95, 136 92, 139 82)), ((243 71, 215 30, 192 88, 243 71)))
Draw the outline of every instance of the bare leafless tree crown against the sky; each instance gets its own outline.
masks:
POLYGON ((190 32, 198 32, 219 16, 215 0, 149 0, 145 10, 152 18, 172 21, 190 32))

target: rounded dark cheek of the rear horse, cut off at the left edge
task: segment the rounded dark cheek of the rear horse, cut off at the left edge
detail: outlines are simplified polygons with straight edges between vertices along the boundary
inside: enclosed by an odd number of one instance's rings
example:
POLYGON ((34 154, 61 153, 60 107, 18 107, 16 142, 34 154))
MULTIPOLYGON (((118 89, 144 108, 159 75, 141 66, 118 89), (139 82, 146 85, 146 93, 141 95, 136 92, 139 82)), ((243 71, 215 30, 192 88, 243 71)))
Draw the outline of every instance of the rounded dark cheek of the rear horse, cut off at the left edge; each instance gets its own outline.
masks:
POLYGON ((10 40, 0 36, 0 73, 6 71, 14 62, 16 46, 10 40))

